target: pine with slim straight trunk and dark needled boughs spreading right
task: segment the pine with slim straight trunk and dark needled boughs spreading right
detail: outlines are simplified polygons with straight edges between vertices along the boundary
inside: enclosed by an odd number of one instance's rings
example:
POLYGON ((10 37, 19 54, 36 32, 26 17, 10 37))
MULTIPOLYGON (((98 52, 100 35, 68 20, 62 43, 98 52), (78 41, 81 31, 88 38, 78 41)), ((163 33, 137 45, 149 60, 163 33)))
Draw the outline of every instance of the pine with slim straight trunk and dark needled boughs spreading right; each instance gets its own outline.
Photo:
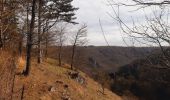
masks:
MULTIPOLYGON (((38 5, 38 63, 41 63, 41 34, 44 34, 47 30, 52 28, 58 22, 68 22, 73 23, 76 19, 75 12, 78 8, 72 6, 73 0, 39 0, 38 5), (44 22, 41 22, 41 21, 44 22), (46 26, 46 23, 50 23, 49 26, 46 26), (44 24, 45 31, 41 33, 41 23, 44 24)), ((45 37, 47 37, 45 35, 45 37)), ((46 43, 47 44, 47 43, 46 43)), ((47 52, 47 51, 46 51, 47 52)))

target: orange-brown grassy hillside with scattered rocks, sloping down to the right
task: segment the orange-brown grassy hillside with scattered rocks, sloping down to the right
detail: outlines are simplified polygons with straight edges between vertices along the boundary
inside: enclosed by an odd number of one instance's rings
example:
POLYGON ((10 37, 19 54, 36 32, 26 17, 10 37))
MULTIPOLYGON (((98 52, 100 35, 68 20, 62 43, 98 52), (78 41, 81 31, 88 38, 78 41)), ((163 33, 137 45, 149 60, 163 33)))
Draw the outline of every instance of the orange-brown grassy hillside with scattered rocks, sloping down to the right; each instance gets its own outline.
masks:
MULTIPOLYGON (((86 74, 79 71, 79 79, 73 79, 69 76, 73 71, 56 65, 52 59, 41 65, 33 63, 29 77, 16 77, 14 90, 24 83, 24 100, 121 100, 107 89, 103 95, 101 86, 86 74)), ((19 97, 14 95, 16 100, 19 97)))

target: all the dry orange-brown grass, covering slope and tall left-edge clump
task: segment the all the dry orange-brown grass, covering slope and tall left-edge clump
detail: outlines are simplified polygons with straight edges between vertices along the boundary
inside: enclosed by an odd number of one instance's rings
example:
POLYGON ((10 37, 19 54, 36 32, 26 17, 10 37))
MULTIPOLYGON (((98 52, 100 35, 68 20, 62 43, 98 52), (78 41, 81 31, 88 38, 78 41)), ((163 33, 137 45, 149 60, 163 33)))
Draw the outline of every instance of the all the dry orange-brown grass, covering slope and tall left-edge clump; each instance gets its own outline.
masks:
MULTIPOLYGON (((0 80, 0 99, 11 97, 11 58, 9 53, 0 52, 0 74, 3 77, 0 80)), ((18 58, 16 65, 19 71, 23 71, 25 59, 18 58)), ((64 67, 57 65, 58 62, 54 59, 47 59, 40 65, 33 60, 29 77, 16 76, 13 100, 20 99, 23 84, 25 85, 24 100, 63 100, 66 96, 71 100, 121 100, 121 97, 109 90, 106 90, 106 95, 103 95, 100 92, 101 86, 81 71, 79 71, 80 75, 86 80, 86 84, 83 85, 68 76, 68 72, 71 72, 69 65, 64 64, 64 67), (50 91, 51 87, 54 91, 50 91)))

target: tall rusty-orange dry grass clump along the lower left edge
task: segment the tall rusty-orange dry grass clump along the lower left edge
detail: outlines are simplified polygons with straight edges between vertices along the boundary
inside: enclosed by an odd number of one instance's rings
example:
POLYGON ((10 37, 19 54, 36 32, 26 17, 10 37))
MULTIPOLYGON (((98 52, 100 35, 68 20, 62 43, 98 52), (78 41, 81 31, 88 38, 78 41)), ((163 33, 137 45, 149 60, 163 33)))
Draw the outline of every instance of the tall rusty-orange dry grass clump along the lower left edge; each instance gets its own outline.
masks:
POLYGON ((10 53, 0 50, 0 100, 9 100, 12 95, 14 59, 10 53))

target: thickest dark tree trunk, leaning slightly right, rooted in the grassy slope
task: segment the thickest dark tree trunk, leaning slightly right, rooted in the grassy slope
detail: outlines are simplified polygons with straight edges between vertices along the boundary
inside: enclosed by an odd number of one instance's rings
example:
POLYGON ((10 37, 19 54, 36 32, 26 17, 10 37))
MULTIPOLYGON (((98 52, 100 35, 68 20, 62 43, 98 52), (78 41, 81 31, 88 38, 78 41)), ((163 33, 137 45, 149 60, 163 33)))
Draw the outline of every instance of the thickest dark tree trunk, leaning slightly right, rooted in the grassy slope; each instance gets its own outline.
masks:
POLYGON ((32 1, 32 17, 30 23, 30 31, 27 33, 27 47, 26 47, 26 69, 24 71, 24 75, 28 76, 30 73, 30 64, 31 64, 31 50, 32 50, 32 34, 34 31, 34 24, 35 24, 35 6, 36 0, 32 1))

